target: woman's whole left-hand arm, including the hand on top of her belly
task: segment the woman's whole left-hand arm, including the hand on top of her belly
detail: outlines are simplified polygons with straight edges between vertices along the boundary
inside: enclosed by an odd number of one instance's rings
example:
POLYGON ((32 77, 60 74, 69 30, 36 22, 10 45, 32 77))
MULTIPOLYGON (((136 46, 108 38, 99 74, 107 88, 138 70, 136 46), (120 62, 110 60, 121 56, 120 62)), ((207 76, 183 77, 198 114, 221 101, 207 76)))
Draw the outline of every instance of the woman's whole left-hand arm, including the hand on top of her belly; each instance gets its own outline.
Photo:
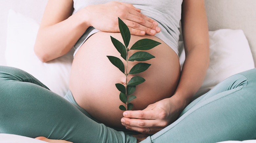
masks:
MULTIPOLYGON (((157 23, 131 4, 109 2, 88 6, 74 15, 73 0, 49 0, 34 45, 42 62, 66 54, 89 26, 106 32, 119 32, 120 17, 134 35, 155 35, 157 23), (153 30, 153 33, 152 33, 153 30)), ((157 30, 156 30, 157 29, 157 30)))

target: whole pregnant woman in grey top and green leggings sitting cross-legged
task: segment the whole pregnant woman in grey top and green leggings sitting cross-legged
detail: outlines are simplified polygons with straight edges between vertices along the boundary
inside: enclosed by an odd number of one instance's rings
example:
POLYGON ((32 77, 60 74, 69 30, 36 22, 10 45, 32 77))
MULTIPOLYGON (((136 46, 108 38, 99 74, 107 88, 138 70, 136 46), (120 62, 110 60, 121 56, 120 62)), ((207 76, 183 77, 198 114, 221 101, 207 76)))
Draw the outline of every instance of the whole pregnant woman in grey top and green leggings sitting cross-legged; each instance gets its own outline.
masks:
MULTIPOLYGON (((249 94, 255 92, 252 88, 256 85, 252 74, 255 70, 230 77, 190 103, 209 64, 203 0, 49 0, 34 47, 36 55, 47 62, 73 47, 76 50, 70 90, 65 99, 24 71, 0 67, 0 133, 74 143, 217 142, 255 138, 252 131, 256 107, 250 100, 254 96, 249 94), (123 112, 118 108, 121 102, 115 84, 125 84, 126 77, 106 57, 122 59, 110 40, 112 36, 122 41, 117 17, 129 27, 132 34, 129 45, 144 38, 161 43, 147 51, 155 56, 147 61, 150 68, 128 76, 128 81, 133 76, 146 79, 136 86, 137 99, 131 102, 134 111, 123 112), (178 58, 180 21, 186 52, 182 71, 178 58), (240 99, 240 92, 248 95, 240 99), (240 103, 253 110, 237 109, 240 103), (234 108, 235 111, 230 111, 234 108), (222 115, 227 119, 221 120, 222 115), (245 115, 250 116, 245 118, 245 115), (242 123, 244 120, 248 122, 242 123), (237 130, 230 121, 240 125, 237 130), (225 130, 218 130, 223 124, 225 130), (148 134, 152 136, 147 137, 148 134)), ((130 51, 128 56, 135 52, 130 51)), ((130 62, 127 70, 135 64, 130 62)))

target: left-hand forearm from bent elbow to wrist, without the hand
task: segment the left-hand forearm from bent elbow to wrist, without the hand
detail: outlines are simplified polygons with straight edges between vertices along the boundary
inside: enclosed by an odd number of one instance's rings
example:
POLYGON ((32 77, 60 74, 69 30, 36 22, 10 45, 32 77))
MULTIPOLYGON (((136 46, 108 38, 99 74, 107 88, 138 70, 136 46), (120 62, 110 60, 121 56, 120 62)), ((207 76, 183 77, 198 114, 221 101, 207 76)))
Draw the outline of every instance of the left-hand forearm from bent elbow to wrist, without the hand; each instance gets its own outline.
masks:
POLYGON ((34 45, 35 54, 43 62, 66 54, 89 27, 80 13, 57 24, 40 27, 34 45))

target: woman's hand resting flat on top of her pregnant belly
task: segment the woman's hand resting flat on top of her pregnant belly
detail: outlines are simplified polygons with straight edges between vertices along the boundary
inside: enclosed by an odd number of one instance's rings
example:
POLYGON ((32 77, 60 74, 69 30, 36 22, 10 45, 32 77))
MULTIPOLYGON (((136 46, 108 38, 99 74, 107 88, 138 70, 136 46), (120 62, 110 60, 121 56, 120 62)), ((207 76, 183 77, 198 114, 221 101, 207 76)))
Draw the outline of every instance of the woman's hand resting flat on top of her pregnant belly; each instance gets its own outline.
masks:
POLYGON ((91 5, 79 12, 85 12, 88 26, 93 26, 105 32, 119 32, 119 17, 129 28, 133 35, 155 35, 160 32, 158 23, 140 13, 140 9, 132 4, 121 2, 108 2, 101 5, 91 5))

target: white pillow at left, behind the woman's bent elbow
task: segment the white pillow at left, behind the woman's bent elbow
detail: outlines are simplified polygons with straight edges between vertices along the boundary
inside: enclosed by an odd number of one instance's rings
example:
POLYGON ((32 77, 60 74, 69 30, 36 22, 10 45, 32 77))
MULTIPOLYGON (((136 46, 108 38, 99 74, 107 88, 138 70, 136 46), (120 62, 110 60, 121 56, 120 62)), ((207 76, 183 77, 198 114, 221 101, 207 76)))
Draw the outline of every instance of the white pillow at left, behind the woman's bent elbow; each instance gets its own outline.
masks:
POLYGON ((68 91, 68 81, 74 50, 68 54, 42 63, 33 51, 39 24, 33 19, 9 11, 7 26, 7 66, 27 71, 45 84, 53 92, 64 96, 68 91))

